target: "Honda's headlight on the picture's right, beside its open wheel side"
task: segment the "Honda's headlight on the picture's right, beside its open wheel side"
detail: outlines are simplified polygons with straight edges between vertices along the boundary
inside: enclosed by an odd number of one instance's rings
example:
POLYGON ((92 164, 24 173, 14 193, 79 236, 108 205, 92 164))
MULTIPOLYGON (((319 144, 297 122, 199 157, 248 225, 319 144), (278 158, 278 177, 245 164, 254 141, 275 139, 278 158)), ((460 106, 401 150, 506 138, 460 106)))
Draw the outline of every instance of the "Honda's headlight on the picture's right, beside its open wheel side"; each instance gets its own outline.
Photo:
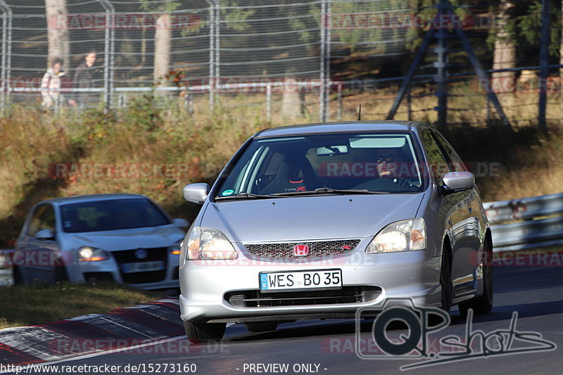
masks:
POLYGON ((367 254, 393 253, 426 248, 426 225, 423 219, 402 220, 381 229, 369 243, 367 254))

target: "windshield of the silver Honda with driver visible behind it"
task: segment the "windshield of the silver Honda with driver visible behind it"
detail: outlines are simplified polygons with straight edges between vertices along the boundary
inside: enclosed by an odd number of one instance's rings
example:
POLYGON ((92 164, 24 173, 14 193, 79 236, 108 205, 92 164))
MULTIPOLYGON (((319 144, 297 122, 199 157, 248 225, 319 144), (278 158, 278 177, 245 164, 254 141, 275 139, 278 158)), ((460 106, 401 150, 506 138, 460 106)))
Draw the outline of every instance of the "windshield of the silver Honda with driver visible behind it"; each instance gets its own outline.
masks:
POLYGON ((255 139, 216 198, 312 193, 409 193, 422 188, 407 133, 336 133, 255 139))

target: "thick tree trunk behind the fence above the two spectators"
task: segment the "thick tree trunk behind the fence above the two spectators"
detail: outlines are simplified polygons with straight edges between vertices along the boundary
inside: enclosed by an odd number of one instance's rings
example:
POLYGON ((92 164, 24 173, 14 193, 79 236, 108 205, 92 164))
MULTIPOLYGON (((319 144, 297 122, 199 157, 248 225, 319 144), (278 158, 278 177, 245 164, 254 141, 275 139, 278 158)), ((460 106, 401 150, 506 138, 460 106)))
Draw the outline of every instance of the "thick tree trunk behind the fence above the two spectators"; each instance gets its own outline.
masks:
POLYGON ((55 58, 62 58, 64 61, 64 69, 70 68, 69 54, 70 44, 68 37, 68 28, 66 20, 68 12, 66 9, 66 0, 45 0, 45 13, 47 17, 47 39, 49 41, 49 56, 47 58, 47 66, 51 66, 51 61, 55 58))

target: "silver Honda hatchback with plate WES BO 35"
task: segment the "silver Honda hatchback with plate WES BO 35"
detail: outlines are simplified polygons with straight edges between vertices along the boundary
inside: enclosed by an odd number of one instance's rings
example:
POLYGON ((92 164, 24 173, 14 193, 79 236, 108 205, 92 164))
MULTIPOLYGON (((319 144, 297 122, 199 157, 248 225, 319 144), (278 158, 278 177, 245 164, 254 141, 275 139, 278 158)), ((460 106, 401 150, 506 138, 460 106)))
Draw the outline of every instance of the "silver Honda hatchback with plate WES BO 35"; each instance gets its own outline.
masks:
POLYGON ((192 341, 296 319, 353 317, 386 298, 466 314, 493 305, 491 229, 474 176, 421 122, 277 127, 236 152, 182 243, 192 341))

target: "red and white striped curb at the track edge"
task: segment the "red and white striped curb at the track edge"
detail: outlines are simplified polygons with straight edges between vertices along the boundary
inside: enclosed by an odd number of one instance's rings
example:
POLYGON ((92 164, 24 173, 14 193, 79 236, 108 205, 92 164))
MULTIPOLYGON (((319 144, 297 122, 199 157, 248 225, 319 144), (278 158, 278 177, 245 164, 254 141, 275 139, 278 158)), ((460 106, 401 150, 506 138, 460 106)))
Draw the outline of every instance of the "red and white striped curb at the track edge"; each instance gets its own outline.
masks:
POLYGON ((168 343, 170 338, 179 336, 184 336, 179 302, 177 298, 167 298, 118 308, 108 314, 88 314, 50 324, 2 329, 0 364, 23 365, 122 352, 150 343, 168 343))

